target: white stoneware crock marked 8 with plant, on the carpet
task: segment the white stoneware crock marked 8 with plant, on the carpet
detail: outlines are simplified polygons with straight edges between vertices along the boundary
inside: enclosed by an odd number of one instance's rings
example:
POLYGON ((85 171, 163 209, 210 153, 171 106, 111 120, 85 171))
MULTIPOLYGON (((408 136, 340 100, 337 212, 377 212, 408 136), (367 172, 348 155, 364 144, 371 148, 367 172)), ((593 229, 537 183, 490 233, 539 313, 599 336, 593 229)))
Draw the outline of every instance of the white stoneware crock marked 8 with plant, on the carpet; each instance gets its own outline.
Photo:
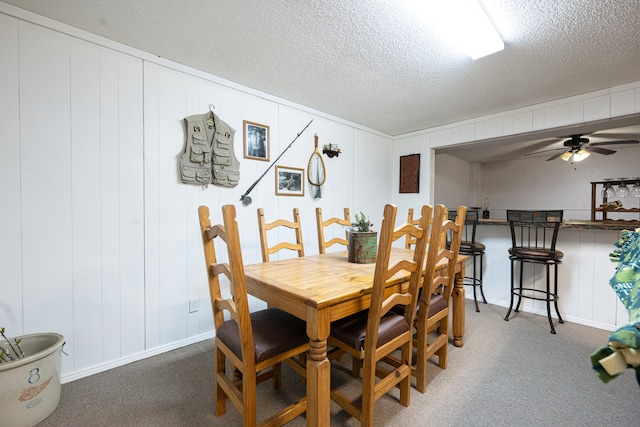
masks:
POLYGON ((64 337, 38 333, 9 339, 0 328, 0 425, 33 426, 60 402, 64 337))

